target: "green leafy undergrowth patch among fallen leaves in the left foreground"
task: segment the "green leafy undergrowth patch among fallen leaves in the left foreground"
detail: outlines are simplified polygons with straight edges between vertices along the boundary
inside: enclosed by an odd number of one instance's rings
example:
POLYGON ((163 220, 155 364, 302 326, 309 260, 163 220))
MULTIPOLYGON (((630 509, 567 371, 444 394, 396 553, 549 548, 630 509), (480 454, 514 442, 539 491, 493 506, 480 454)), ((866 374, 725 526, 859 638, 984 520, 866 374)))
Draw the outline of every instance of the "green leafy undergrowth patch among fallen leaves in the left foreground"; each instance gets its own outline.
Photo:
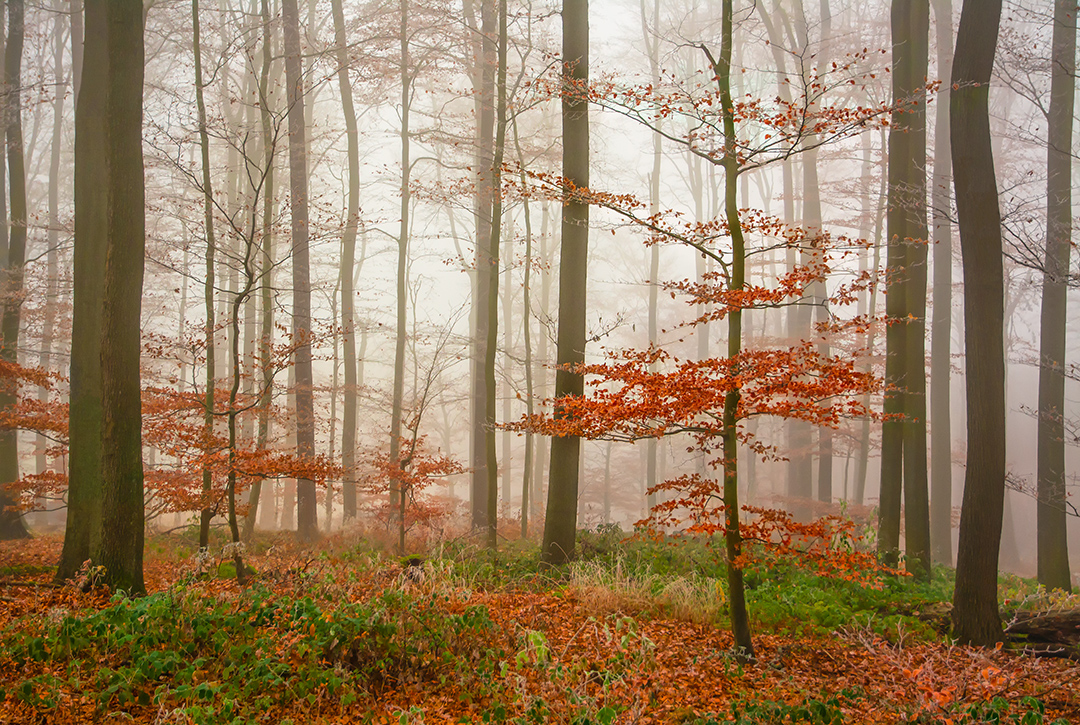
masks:
MULTIPOLYGON (((176 587, 52 612, 9 629, 0 669, 45 664, 0 689, 42 712, 90 695, 97 713, 152 707, 194 723, 246 723, 275 708, 347 708, 402 682, 453 680, 484 693, 505 656, 486 608, 389 590, 330 605, 253 588, 240 600, 176 587), (480 656, 476 656, 480 655, 480 656)), ((29 666, 29 667, 28 667, 29 666)))

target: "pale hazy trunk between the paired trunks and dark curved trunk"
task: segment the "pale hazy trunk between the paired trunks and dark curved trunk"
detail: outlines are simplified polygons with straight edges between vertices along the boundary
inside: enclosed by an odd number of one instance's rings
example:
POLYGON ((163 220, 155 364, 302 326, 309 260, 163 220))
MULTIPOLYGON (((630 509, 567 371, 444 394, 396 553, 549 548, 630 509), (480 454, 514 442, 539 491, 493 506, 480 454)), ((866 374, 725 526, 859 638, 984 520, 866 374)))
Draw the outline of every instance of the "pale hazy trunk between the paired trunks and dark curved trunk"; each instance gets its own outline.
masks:
POLYGON ((953 220, 949 184, 948 94, 953 76, 953 0, 933 0, 937 37, 937 116, 934 121, 933 207, 934 291, 930 332, 930 546, 934 563, 953 565, 953 424, 949 378, 953 365, 953 220))

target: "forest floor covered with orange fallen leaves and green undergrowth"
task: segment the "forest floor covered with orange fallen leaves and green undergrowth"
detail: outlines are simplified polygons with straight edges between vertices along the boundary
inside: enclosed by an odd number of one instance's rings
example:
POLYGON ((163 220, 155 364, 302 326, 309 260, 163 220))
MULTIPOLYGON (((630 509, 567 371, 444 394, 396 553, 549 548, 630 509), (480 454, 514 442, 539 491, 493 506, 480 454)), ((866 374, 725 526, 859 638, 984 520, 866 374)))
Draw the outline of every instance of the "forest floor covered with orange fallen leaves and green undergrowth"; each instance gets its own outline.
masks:
MULTIPOLYGON (((58 538, 0 542, 0 723, 1080 723, 1077 662, 935 631, 947 572, 752 570, 741 663, 712 547, 617 539, 557 576, 523 546, 443 547, 414 576, 355 535, 268 536, 241 589, 159 536, 137 600, 54 586, 58 538)), ((1001 596, 1077 605, 1008 577, 1001 596)))

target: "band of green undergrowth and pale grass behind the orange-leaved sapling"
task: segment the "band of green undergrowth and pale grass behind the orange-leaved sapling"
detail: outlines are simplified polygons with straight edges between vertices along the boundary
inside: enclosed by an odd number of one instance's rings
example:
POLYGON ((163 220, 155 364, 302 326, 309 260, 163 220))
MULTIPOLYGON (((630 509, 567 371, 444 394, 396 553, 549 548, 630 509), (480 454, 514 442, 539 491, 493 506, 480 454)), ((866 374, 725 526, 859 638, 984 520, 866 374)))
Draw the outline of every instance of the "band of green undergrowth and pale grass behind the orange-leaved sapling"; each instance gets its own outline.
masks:
MULTIPOLYGON (((617 525, 579 533, 578 559, 538 575, 539 548, 515 541, 491 553, 475 546, 444 546, 429 565, 471 589, 531 587, 570 590, 602 610, 728 625, 727 565, 723 539, 635 537, 617 525)), ((887 637, 940 641, 948 634, 955 570, 935 566, 929 581, 873 574, 866 581, 820 576, 791 559, 758 551, 745 572, 746 600, 756 632, 827 634, 841 629, 887 637)), ((1080 596, 1047 592, 1030 579, 1002 574, 1005 610, 1076 607, 1080 596)))

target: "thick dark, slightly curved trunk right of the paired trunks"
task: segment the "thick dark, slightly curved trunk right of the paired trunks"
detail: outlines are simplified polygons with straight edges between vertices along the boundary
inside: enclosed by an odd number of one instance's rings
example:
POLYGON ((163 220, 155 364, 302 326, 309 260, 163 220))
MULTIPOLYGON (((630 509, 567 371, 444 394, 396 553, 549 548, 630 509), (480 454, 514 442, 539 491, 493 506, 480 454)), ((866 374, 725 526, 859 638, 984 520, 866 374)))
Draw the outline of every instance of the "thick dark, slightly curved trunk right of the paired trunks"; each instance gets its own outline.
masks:
POLYGON ((1000 19, 1001 0, 964 1, 949 98, 968 368, 968 469, 953 633, 961 643, 977 645, 1001 640, 997 583, 1005 479, 1004 285, 989 120, 1000 19))

